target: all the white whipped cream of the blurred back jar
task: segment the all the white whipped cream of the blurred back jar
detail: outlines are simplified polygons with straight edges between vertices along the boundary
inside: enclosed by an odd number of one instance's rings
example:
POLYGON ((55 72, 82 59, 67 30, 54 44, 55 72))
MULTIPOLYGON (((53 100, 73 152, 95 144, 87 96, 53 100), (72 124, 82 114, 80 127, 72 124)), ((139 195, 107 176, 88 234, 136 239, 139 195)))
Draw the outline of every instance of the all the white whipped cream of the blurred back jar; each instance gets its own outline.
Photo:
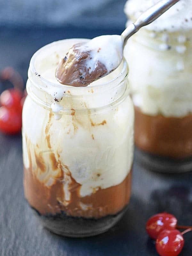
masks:
MULTIPOLYGON (((159 0, 128 0, 134 22, 159 0)), ((148 115, 182 117, 192 112, 192 0, 180 0, 127 42, 124 56, 134 105, 148 115)))

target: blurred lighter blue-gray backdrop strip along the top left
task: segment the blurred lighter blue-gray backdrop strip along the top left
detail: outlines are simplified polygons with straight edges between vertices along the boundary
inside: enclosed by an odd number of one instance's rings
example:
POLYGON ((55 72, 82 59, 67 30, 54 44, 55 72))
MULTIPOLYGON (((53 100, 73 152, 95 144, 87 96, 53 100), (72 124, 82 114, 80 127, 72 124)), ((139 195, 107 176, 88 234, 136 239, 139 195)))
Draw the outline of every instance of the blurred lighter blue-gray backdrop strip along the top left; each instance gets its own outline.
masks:
POLYGON ((0 26, 124 28, 126 0, 0 0, 0 26))

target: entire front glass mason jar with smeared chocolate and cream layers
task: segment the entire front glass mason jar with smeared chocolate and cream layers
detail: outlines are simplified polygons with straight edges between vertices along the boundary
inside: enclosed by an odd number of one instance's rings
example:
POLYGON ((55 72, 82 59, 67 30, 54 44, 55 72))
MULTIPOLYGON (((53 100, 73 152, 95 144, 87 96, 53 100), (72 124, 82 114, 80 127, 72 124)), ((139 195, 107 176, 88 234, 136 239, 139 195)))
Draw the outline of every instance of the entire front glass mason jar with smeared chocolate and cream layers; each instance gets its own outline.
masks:
POLYGON ((105 232, 123 215, 131 192, 134 109, 125 60, 87 87, 59 84, 58 61, 73 44, 48 44, 32 57, 23 107, 24 191, 52 232, 105 232))

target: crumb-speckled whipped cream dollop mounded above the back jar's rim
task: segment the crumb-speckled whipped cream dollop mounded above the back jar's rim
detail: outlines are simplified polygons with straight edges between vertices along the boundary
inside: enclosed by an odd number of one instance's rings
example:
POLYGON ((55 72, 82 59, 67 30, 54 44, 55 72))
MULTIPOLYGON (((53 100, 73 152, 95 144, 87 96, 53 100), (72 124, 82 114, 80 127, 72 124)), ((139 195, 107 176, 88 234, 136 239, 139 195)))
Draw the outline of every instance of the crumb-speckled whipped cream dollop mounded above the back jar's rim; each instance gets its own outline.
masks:
MULTIPOLYGON (((127 25, 134 22, 142 12, 157 2, 159 0, 128 0, 124 7, 124 12, 130 19, 127 25)), ((145 28, 156 32, 192 29, 192 0, 180 0, 145 28)))

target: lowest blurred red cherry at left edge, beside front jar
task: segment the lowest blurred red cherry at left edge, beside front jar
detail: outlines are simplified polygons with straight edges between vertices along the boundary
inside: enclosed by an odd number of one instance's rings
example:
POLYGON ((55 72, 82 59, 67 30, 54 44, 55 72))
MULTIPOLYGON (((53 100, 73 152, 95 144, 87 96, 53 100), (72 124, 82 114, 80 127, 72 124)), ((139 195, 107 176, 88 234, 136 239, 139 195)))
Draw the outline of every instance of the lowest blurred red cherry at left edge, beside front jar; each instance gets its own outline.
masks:
POLYGON ((12 108, 0 107, 0 131, 16 134, 21 131, 21 112, 12 108))

